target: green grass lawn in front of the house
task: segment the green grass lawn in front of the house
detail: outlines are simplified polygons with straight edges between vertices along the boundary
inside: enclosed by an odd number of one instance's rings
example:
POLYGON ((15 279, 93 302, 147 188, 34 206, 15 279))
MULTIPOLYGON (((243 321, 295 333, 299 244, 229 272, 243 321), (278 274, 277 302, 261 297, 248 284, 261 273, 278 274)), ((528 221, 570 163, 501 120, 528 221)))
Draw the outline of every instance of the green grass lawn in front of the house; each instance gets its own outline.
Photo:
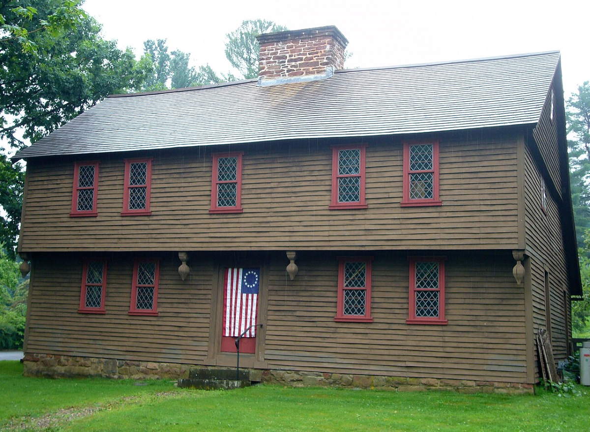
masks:
POLYGON ((590 395, 463 395, 283 388, 176 389, 109 379, 24 378, 0 362, 0 428, 51 431, 588 430, 590 395), (61 410, 61 411, 60 411, 61 410))

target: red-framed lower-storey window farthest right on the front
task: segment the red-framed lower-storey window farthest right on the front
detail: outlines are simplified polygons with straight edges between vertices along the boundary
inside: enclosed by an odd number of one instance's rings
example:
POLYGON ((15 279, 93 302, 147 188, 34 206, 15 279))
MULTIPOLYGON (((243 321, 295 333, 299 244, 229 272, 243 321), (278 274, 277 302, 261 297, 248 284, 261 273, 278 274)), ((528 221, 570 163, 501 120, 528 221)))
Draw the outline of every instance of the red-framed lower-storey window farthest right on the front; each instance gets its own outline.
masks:
POLYGON ((447 324, 444 257, 409 257, 408 324, 447 324))

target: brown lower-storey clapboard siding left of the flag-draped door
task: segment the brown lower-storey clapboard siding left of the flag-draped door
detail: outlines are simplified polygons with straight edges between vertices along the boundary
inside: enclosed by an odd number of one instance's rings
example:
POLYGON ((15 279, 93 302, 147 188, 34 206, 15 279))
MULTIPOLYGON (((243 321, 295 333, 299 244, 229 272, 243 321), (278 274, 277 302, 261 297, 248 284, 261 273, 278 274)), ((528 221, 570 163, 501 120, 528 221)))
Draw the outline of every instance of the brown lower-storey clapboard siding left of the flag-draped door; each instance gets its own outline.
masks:
POLYGON ((178 258, 162 256, 159 316, 128 315, 134 256, 107 257, 105 315, 77 313, 79 254, 34 261, 28 352, 194 363, 207 355, 212 263, 191 263, 199 278, 182 282, 178 258))

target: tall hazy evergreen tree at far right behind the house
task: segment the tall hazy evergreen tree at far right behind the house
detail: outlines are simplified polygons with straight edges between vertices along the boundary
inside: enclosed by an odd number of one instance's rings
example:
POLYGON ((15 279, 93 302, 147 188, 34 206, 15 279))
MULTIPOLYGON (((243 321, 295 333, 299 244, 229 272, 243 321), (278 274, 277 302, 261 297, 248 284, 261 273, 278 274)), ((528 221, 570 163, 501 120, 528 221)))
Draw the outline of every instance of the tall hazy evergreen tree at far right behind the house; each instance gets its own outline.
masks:
POLYGON ((584 244, 584 231, 590 228, 590 85, 578 87, 568 99, 568 153, 573 217, 578 244, 584 244))

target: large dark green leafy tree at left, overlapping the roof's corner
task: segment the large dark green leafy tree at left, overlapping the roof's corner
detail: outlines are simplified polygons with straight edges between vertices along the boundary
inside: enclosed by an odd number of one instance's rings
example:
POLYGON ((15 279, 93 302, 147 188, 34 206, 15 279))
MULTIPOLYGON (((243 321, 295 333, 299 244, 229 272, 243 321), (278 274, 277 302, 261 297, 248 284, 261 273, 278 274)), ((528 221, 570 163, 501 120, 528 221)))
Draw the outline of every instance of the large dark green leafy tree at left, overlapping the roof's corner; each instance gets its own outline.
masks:
MULTIPOLYGON (((151 67, 105 41, 80 0, 0 4, 0 140, 35 142, 110 93, 139 89, 151 67)), ((22 167, 0 158, 0 243, 14 257, 22 167)))

